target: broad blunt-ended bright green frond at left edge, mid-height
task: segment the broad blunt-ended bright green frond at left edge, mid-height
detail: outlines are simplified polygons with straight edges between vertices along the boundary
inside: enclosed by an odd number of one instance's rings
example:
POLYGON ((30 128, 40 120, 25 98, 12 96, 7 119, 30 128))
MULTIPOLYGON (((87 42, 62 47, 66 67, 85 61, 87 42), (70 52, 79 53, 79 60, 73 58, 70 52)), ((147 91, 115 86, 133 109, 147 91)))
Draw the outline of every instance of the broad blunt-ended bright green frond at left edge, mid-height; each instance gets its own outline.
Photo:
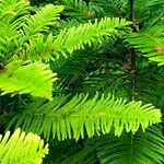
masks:
POLYGON ((34 62, 23 65, 22 61, 13 61, 0 71, 0 89, 3 94, 25 94, 50 98, 55 73, 47 65, 34 62))

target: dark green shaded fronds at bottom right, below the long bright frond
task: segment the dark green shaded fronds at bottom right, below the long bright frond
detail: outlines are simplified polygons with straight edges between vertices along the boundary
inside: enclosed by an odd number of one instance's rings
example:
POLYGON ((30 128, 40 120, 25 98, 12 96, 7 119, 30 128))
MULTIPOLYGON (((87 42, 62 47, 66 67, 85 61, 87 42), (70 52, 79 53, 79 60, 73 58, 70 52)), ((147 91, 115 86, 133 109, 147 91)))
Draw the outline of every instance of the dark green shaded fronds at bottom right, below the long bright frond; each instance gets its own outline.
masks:
MULTIPOLYGON (((71 148, 71 147, 70 147, 71 148)), ((160 125, 136 134, 126 131, 118 138, 113 132, 84 141, 77 153, 68 153, 62 164, 161 164, 164 160, 164 137, 160 125)))

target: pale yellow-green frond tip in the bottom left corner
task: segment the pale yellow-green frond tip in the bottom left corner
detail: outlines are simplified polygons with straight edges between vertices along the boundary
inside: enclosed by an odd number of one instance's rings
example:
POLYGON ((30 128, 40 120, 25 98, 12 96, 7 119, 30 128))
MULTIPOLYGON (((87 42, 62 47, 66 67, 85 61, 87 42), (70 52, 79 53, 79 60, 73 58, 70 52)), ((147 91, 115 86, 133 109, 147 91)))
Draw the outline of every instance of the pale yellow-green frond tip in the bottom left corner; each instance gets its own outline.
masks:
POLYGON ((16 129, 10 137, 7 131, 0 136, 0 163, 1 164, 40 164, 43 157, 48 154, 48 145, 33 133, 21 132, 16 129))

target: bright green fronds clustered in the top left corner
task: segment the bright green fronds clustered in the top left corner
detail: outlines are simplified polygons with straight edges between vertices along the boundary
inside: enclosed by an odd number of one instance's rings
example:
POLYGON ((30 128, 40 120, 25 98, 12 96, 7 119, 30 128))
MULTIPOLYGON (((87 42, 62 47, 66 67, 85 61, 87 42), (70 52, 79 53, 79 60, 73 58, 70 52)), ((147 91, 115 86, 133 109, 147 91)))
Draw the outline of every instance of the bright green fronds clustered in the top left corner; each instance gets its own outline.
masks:
MULTIPOLYGON (((36 54, 31 56, 28 48, 31 45, 34 46, 39 35, 44 33, 46 37, 50 33, 49 28, 57 25, 58 13, 63 10, 63 7, 48 4, 32 15, 30 13, 32 9, 25 0, 7 3, 9 2, 2 1, 0 3, 0 56, 4 58, 4 61, 13 56, 33 60, 44 58, 39 51, 35 51, 36 54)), ((36 46, 38 49, 42 45, 36 46)))

